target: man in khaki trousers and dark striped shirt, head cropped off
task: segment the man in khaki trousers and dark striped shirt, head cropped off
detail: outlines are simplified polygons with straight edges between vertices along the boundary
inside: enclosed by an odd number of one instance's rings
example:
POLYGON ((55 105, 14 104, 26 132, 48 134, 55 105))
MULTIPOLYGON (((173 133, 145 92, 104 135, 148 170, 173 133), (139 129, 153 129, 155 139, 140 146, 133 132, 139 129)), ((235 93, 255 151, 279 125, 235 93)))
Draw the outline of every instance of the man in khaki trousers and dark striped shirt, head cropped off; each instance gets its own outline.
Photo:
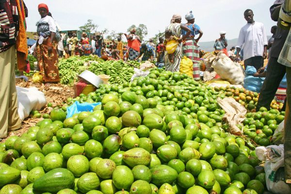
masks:
MULTIPOLYGON (((17 113, 15 56, 16 49, 23 51, 20 41, 26 43, 25 16, 27 9, 22 0, 0 0, 0 138, 5 138, 7 131, 21 127, 17 113)), ((24 47, 27 51, 25 44, 24 47)))

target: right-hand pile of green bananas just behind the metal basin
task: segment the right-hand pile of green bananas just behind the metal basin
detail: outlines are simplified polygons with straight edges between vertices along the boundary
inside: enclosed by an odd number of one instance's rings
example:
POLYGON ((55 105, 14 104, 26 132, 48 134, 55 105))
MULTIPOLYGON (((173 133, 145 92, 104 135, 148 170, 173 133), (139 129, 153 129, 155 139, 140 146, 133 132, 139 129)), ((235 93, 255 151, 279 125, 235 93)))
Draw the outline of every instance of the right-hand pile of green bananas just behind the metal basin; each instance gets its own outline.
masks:
POLYGON ((111 77, 110 83, 122 84, 123 82, 129 82, 134 71, 133 67, 126 62, 119 61, 106 61, 103 63, 91 63, 88 70, 96 75, 105 74, 111 77))

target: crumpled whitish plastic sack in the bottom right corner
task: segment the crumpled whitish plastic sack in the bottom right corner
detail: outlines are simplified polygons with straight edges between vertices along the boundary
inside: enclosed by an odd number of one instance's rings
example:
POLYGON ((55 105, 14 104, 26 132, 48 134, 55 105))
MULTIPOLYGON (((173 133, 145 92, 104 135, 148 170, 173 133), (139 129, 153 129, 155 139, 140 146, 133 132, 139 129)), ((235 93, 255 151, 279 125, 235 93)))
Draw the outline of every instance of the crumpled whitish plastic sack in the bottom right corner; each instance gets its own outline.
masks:
POLYGON ((264 164, 267 189, 273 194, 291 194, 291 188, 281 178, 280 167, 284 166, 284 145, 259 146, 256 148, 259 160, 264 164), (278 174, 278 175, 277 175, 278 174))

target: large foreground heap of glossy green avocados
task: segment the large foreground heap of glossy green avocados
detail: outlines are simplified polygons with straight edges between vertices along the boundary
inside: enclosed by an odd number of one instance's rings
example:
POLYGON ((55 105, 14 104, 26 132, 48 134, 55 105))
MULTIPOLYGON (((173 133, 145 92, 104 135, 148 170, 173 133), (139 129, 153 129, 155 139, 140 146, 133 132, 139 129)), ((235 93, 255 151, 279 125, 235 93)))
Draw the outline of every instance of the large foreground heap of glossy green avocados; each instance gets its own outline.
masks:
POLYGON ((53 109, 0 144, 0 194, 262 194, 264 168, 244 139, 223 130, 219 93, 153 70, 68 98, 101 105, 71 118, 65 106, 53 109))

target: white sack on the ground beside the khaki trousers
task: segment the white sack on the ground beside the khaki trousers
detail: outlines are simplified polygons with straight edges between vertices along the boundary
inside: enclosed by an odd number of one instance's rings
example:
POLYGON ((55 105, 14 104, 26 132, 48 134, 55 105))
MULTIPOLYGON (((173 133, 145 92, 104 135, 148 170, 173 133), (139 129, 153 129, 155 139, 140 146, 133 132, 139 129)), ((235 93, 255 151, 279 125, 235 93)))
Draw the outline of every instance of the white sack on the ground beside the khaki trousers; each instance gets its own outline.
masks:
POLYGON ((22 88, 16 86, 18 114, 23 121, 27 118, 32 110, 40 110, 47 104, 47 99, 43 92, 36 87, 22 88))

